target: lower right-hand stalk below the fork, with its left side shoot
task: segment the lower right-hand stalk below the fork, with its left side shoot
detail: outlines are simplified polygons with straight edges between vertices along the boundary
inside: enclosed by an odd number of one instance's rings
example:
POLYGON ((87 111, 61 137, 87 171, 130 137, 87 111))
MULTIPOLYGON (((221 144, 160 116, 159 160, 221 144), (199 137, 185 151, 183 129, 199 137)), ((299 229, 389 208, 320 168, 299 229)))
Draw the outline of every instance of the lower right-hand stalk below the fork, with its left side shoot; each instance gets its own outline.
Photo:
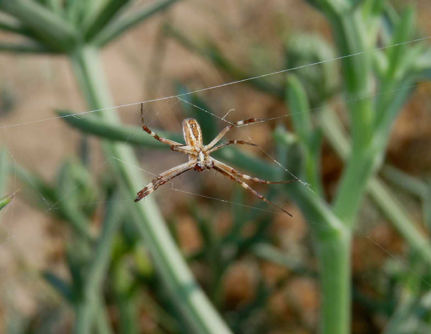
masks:
POLYGON ((305 214, 316 240, 322 296, 320 332, 350 333, 350 228, 303 184, 287 189, 305 214))

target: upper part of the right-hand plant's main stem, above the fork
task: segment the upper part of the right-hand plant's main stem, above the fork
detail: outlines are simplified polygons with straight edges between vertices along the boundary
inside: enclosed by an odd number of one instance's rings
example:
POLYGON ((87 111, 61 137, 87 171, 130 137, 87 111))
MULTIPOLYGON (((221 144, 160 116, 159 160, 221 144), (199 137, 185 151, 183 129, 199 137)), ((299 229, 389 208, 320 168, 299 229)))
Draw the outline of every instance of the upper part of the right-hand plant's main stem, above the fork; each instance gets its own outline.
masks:
MULTIPOLYGON (((327 13, 333 26, 340 55, 351 55, 367 50, 365 29, 361 12, 327 13)), ((343 172, 334 210, 346 225, 353 226, 365 192, 365 184, 372 175, 375 158, 378 152, 372 149, 371 139, 374 113, 371 98, 370 56, 363 53, 342 59, 344 77, 346 78, 347 99, 359 99, 349 103, 352 128, 352 155, 343 172), (352 191, 354 189, 355 191, 352 191)))

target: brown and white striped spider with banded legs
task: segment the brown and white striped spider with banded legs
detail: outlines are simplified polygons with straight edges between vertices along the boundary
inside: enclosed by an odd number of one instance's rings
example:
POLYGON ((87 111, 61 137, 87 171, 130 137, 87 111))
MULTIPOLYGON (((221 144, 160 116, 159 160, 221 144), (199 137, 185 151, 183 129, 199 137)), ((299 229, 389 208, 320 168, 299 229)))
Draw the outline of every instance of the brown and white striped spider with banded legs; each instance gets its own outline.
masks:
POLYGON ((290 181, 266 181, 261 178, 254 178, 253 176, 242 174, 232 167, 224 164, 221 161, 218 161, 211 156, 209 156, 212 152, 221 149, 222 147, 225 147, 230 144, 241 144, 241 145, 252 145, 257 146, 256 144, 247 143, 244 140, 229 140, 225 143, 219 144, 214 147, 217 142, 222 139, 222 137, 234 126, 238 125, 244 125, 249 124, 253 122, 264 122, 266 119, 259 119, 259 118, 251 118, 246 119, 244 121, 239 121, 235 123, 231 123, 230 125, 226 126, 218 135, 215 137, 211 143, 208 145, 203 145, 202 143, 202 131, 200 130, 200 125, 196 121, 196 119, 187 118, 183 121, 183 135, 184 140, 186 144, 180 144, 176 141, 169 140, 166 138, 162 138, 155 134, 153 131, 151 131, 147 125, 144 124, 144 113, 143 113, 143 104, 141 103, 141 120, 142 120, 142 128, 145 132, 162 142, 163 144, 168 144, 171 146, 171 150, 178 151, 181 153, 188 154, 189 161, 186 163, 183 163, 182 165, 178 165, 174 168, 171 168, 167 170, 166 172, 163 172, 162 174, 158 175, 153 181, 151 181, 149 184, 147 184, 144 189, 139 191, 137 193, 135 202, 142 200, 147 195, 151 194, 154 190, 156 190, 158 187, 162 186, 163 184, 166 184, 167 182, 171 181, 173 178, 176 178, 177 176, 180 176, 181 174, 194 169, 197 172, 204 172, 209 169, 215 169, 216 171, 222 173, 223 175, 228 176, 232 180, 238 182, 240 185, 242 185, 247 190, 250 190, 253 195, 256 197, 259 197, 261 200, 265 201, 268 204, 271 204, 272 206, 275 206, 276 208, 280 209, 281 211, 287 213, 292 217, 292 215, 287 212, 286 210, 282 209, 280 206, 270 202, 265 197, 263 197, 261 194, 259 194, 256 190, 254 190, 252 187, 250 187, 247 183, 242 181, 240 178, 244 178, 246 180, 256 181, 260 183, 266 183, 266 184, 272 184, 272 183, 290 183, 294 181, 298 181, 297 178, 290 181))

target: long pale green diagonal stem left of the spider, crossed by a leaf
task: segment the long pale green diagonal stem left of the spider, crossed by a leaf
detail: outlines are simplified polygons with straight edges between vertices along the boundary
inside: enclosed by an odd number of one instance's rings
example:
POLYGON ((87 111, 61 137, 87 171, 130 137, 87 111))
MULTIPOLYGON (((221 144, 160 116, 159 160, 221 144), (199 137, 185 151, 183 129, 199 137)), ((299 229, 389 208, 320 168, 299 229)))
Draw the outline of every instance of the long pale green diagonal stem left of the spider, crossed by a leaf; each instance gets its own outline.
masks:
MULTIPOLYGON (((101 69, 98 50, 94 47, 78 49, 72 56, 72 64, 89 107, 91 109, 111 107, 113 104, 101 69)), ((108 123, 120 122, 115 110, 97 114, 108 123)), ((133 167, 139 165, 133 150, 127 145, 107 141, 103 142, 103 150, 106 156, 116 158, 111 161, 112 167, 124 184, 126 196, 134 198, 137 188, 145 184, 145 181, 139 169, 133 167)), ((187 325, 195 333, 230 333, 187 268, 153 197, 139 203, 132 202, 130 205, 137 231, 150 250, 154 264, 165 282, 169 295, 172 296, 172 302, 187 325)))

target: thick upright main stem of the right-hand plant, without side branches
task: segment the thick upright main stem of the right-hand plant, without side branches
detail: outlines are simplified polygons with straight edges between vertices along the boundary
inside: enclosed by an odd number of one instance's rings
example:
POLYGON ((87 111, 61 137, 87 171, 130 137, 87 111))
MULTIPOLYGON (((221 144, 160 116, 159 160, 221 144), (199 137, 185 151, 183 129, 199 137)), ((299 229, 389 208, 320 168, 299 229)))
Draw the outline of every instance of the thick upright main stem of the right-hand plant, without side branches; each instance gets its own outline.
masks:
MULTIPOLYGON (((332 3, 331 1, 323 1, 332 3)), ((330 6, 330 5, 328 5, 330 6)), ((365 26, 359 10, 338 12, 325 10, 332 25, 340 56, 367 50, 365 26)), ((355 224, 365 184, 375 168, 377 152, 372 150, 374 112, 371 98, 371 61, 368 54, 342 59, 347 99, 358 99, 349 105, 353 134, 352 154, 341 177, 334 200, 334 213, 349 229, 317 243, 322 282, 323 334, 347 334, 351 322, 351 228, 355 224)))

